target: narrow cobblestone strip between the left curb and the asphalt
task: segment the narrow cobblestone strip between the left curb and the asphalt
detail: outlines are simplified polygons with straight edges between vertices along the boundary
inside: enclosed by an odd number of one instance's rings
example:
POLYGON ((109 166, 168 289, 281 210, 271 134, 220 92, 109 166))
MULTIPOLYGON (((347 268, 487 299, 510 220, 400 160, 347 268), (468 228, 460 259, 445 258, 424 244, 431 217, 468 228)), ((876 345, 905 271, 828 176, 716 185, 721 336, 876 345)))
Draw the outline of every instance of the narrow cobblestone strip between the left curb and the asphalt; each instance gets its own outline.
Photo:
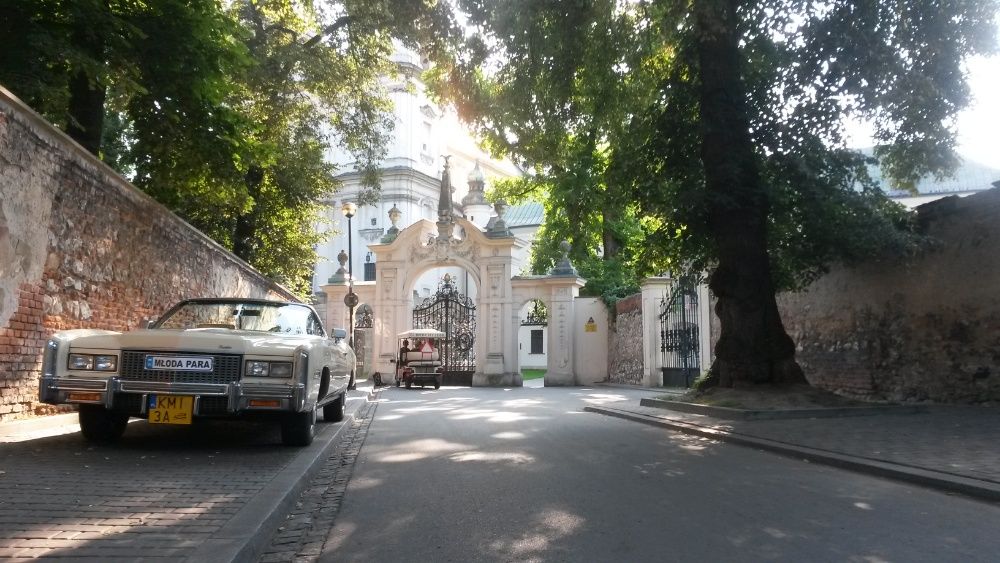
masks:
POLYGON ((377 404, 368 402, 358 409, 351 428, 275 532, 271 546, 258 559, 260 563, 311 563, 322 554, 377 404))

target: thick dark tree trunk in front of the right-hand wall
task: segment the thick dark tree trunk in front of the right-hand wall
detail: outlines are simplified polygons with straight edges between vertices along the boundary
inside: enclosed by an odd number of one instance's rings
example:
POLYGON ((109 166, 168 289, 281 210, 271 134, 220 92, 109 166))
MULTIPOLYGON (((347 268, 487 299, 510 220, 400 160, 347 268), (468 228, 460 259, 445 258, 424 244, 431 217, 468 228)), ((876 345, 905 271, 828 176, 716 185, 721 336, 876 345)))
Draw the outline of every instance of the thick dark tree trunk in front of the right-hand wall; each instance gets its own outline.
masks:
POLYGON ((737 0, 695 0, 701 158, 719 263, 709 279, 721 334, 720 386, 805 382, 778 314, 767 255, 767 191, 750 137, 737 42, 737 0))

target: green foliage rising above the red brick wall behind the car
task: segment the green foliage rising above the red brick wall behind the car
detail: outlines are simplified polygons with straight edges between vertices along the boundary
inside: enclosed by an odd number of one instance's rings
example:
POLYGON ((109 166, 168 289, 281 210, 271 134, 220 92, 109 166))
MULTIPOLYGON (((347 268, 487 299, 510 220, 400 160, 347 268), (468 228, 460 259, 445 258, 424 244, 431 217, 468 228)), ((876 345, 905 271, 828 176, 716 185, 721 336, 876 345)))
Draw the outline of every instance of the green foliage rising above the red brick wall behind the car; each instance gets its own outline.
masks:
POLYGON ((377 197, 391 37, 441 57, 456 34, 422 0, 11 0, 0 83, 71 133, 96 112, 98 156, 305 296, 332 146, 377 197))

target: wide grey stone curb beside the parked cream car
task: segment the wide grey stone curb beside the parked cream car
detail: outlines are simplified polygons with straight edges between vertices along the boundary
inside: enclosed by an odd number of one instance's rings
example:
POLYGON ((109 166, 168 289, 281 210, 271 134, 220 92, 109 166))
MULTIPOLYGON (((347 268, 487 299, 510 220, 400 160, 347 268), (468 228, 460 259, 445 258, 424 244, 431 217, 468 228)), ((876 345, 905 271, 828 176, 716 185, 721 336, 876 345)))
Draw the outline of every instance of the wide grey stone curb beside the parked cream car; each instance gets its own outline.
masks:
MULTIPOLYGON (((376 391, 368 389, 363 399, 371 401, 376 391)), ((350 428, 360 404, 336 424, 319 422, 319 433, 312 445, 295 456, 264 489, 212 537, 198 547, 198 554, 186 559, 191 563, 256 561, 270 545, 274 531, 295 506, 299 495, 323 467, 340 443, 340 435, 350 428)))

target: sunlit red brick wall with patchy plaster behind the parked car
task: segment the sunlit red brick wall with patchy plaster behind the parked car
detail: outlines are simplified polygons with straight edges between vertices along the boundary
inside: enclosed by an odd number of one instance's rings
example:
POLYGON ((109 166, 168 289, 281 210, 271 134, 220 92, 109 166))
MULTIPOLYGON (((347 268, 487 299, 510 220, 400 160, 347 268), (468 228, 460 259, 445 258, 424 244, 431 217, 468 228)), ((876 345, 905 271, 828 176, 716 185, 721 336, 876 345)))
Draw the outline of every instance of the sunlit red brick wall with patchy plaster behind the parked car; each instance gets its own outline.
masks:
POLYGON ((292 298, 0 88, 0 421, 53 410, 37 402, 53 332, 217 295, 292 298))

